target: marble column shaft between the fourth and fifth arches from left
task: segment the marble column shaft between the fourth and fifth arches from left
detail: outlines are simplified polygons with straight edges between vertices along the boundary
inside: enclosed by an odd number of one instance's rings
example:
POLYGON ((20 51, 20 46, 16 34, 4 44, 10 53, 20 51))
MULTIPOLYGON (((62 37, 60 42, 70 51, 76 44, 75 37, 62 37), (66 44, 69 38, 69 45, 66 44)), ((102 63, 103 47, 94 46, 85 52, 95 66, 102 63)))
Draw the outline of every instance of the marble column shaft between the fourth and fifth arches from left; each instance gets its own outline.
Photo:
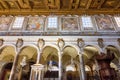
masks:
POLYGON ((82 53, 79 53, 79 59, 80 59, 81 80, 86 80, 85 65, 84 65, 82 53))

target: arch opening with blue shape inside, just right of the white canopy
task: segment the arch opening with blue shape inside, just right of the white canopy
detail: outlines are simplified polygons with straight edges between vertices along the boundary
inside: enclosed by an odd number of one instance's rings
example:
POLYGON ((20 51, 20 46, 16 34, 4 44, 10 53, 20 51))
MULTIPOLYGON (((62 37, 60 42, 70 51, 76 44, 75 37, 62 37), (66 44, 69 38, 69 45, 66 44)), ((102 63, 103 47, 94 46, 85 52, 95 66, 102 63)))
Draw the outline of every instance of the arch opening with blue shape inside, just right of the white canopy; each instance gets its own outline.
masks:
POLYGON ((59 78, 59 56, 58 50, 55 47, 44 47, 40 58, 40 64, 45 66, 43 73, 44 79, 54 80, 59 78))

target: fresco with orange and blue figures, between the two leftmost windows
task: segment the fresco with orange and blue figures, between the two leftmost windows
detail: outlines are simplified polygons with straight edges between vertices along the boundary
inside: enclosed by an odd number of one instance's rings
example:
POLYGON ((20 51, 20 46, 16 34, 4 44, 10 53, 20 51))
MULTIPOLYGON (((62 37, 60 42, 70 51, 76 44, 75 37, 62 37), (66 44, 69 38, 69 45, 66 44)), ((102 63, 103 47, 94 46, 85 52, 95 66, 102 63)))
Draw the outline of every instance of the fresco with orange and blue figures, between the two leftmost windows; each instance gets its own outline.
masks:
POLYGON ((28 31, 37 31, 43 30, 44 19, 42 17, 30 17, 28 20, 28 25, 26 30, 28 31))

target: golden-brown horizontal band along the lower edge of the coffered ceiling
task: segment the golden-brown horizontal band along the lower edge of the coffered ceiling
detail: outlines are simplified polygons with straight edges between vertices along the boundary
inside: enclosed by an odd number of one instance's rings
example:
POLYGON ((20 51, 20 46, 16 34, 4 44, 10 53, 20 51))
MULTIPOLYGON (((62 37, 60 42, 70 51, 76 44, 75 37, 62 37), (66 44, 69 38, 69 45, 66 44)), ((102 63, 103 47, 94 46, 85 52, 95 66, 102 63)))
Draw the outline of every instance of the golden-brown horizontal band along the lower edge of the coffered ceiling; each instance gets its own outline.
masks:
MULTIPOLYGON (((77 10, 52 10, 52 13, 55 15, 67 15, 67 14, 73 14, 73 15, 82 15, 82 14, 120 14, 120 9, 104 9, 104 10, 85 10, 85 9, 77 9, 77 10)), ((0 10, 0 15, 50 15, 51 10, 0 10)))

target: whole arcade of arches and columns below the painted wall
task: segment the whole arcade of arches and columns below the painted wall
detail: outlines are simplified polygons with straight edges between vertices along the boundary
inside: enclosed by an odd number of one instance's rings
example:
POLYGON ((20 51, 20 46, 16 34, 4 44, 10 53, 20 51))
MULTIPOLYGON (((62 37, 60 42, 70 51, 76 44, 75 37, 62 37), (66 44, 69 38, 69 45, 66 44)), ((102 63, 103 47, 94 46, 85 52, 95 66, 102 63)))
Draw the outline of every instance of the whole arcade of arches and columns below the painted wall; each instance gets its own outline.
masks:
POLYGON ((0 80, 120 78, 120 46, 116 37, 8 36, 3 39, 0 80))

